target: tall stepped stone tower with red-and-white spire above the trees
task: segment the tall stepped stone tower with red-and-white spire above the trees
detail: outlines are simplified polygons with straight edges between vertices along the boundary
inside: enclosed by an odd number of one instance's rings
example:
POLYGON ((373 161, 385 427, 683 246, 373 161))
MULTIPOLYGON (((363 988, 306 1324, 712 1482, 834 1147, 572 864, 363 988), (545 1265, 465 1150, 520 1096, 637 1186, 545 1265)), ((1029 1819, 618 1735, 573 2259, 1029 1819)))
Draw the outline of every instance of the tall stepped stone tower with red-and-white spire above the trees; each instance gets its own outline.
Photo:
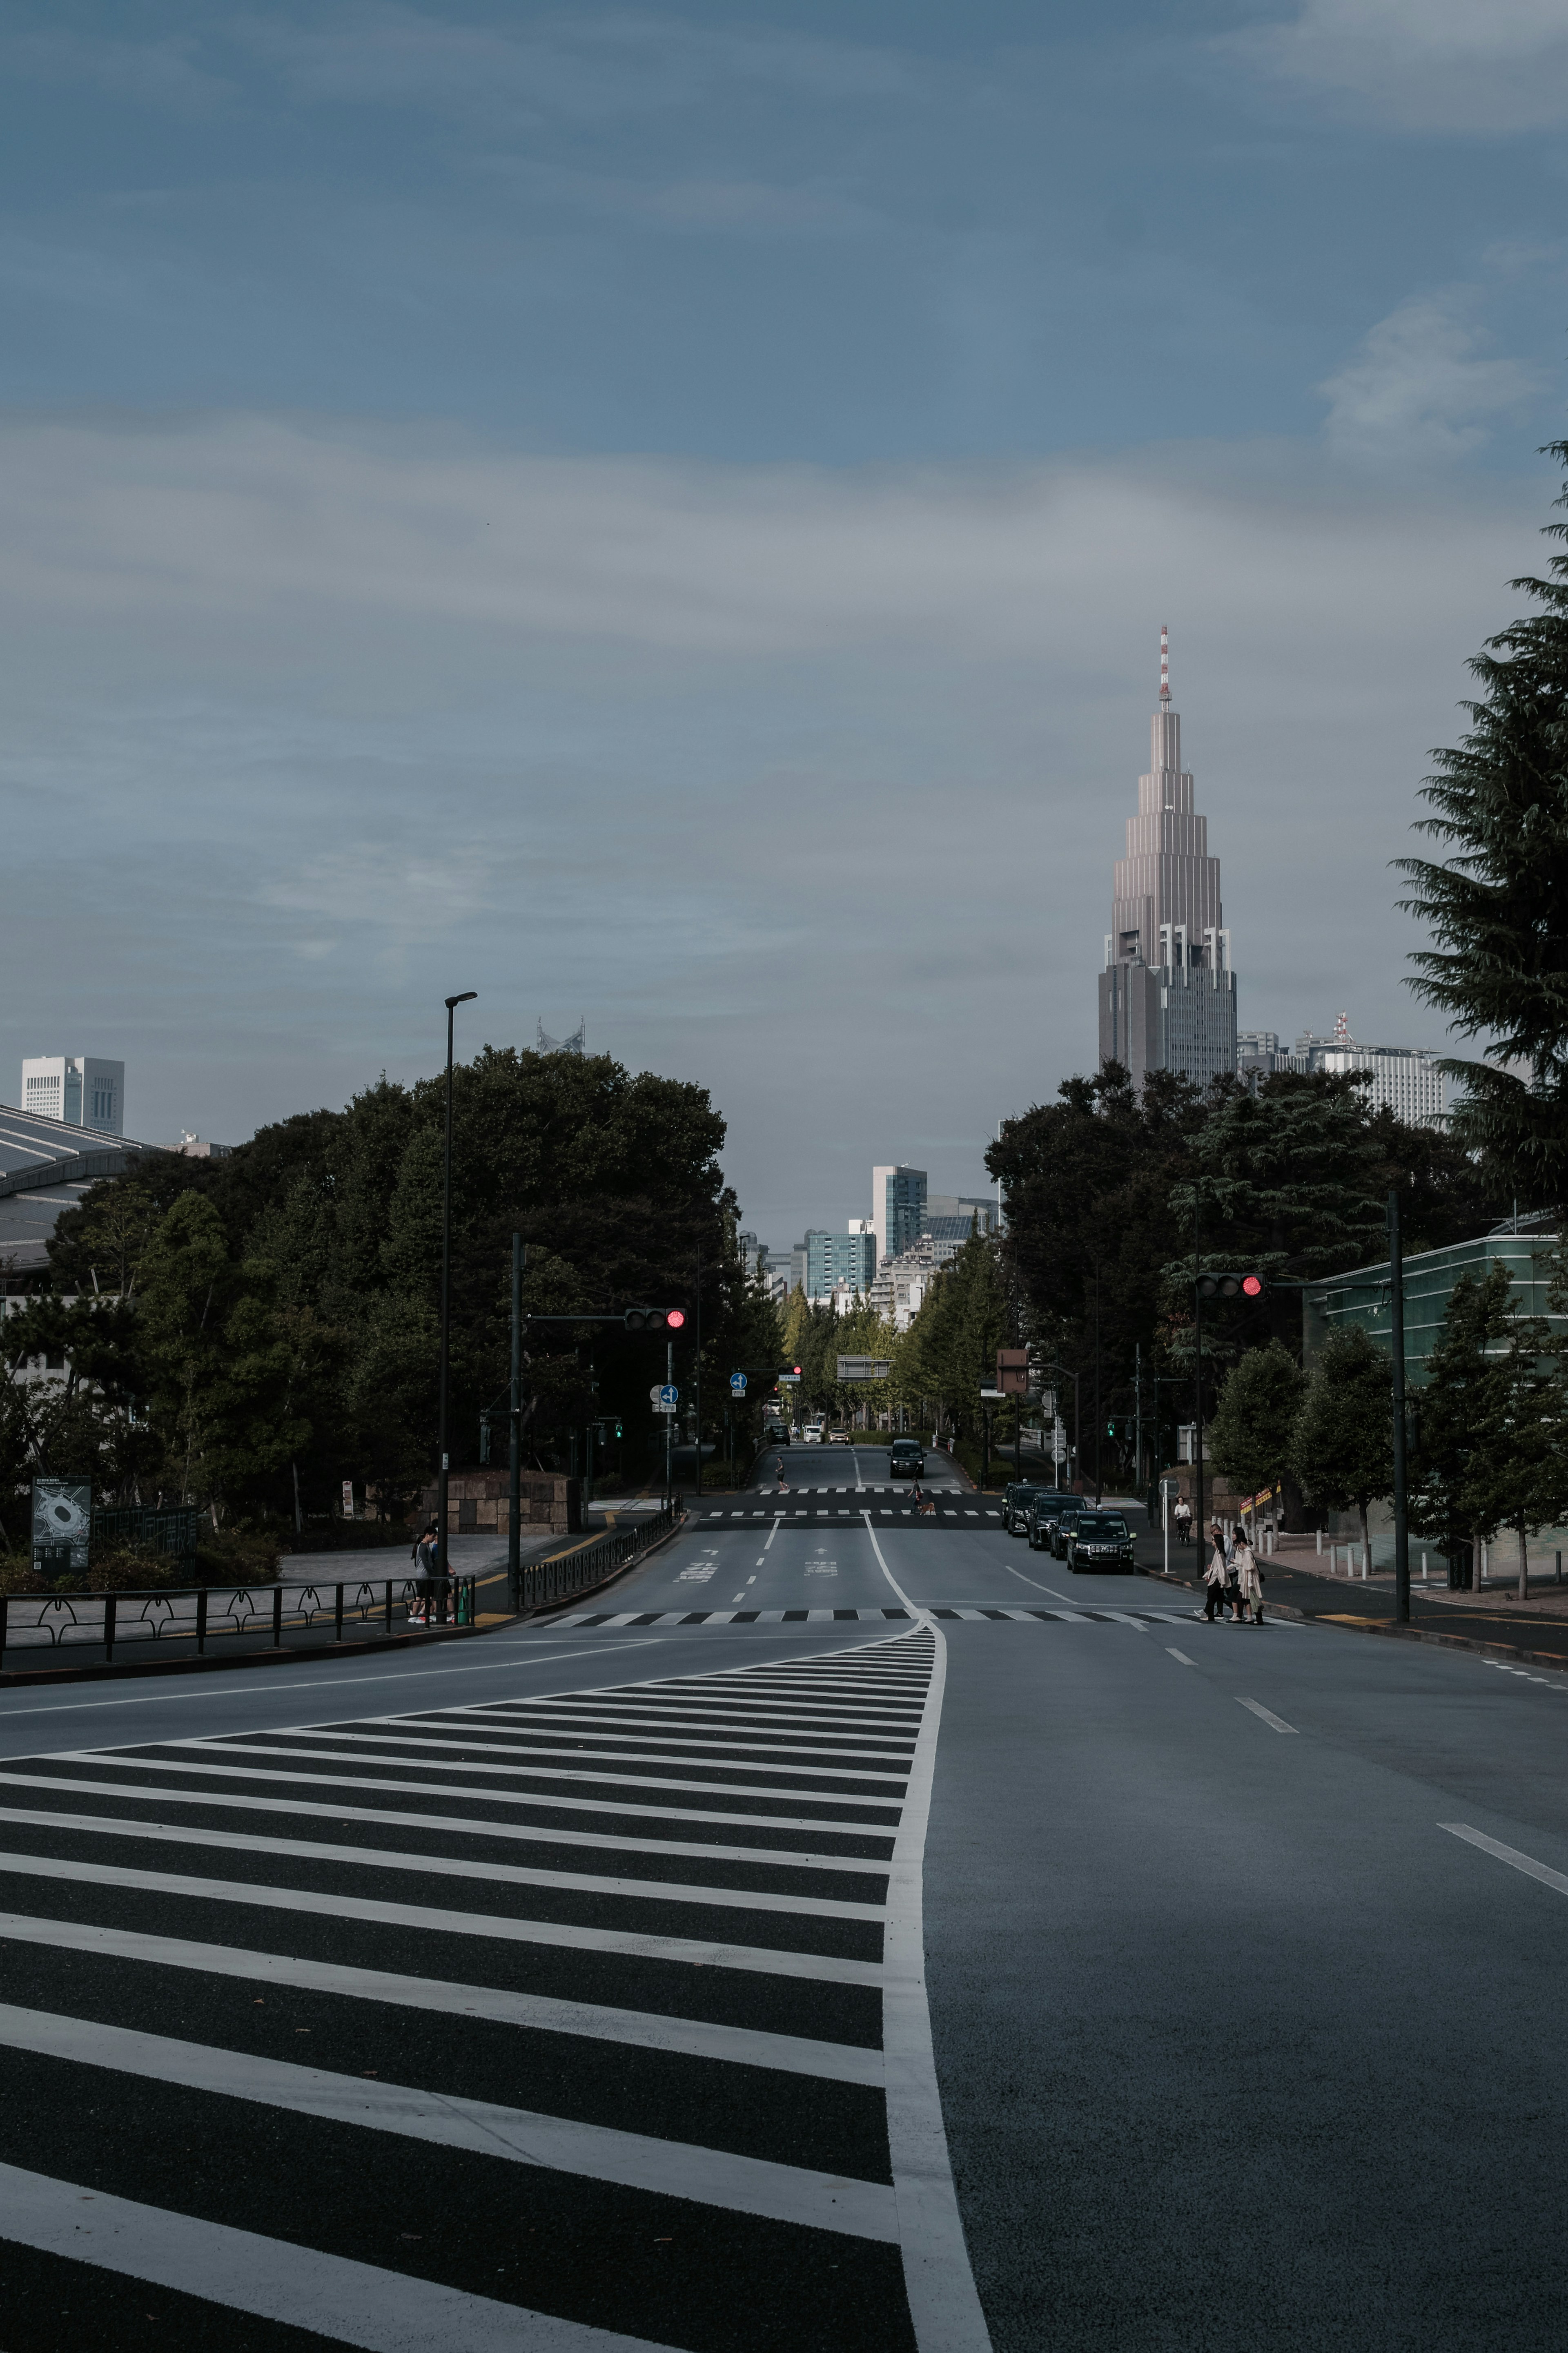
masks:
POLYGON ((1138 814, 1126 821, 1126 856, 1117 859, 1112 882, 1100 1061, 1126 1064, 1135 1085, 1147 1071, 1182 1071, 1206 1085, 1237 1068, 1237 976, 1220 861, 1208 856, 1208 819, 1192 807, 1164 624, 1150 772, 1138 779, 1138 814))

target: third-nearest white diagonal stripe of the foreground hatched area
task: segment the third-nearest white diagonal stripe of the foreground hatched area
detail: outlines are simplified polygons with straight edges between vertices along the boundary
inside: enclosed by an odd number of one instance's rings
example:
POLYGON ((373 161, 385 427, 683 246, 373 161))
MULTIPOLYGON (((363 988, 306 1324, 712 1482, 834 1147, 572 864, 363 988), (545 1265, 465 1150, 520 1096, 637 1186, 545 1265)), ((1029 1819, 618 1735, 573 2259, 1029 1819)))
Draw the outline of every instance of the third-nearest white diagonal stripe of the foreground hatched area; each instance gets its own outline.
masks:
POLYGON ((766 2066, 785 2075, 818 2075, 827 2082, 882 2082, 882 2052, 858 2042, 818 2042, 811 2035, 773 2035, 764 2028, 717 2026, 708 2019, 665 2019, 646 2009, 614 2009, 607 2002, 503 1993, 496 1986, 463 1986, 442 1977, 353 1969, 336 1960, 303 1960, 296 1953, 252 1953, 233 1944, 146 1937, 132 1927, 40 1920, 33 1913, 0 1913, 0 1939, 68 1953, 106 1953, 115 1960, 143 1960, 160 1969, 200 1969, 205 1977, 240 1977, 247 1984, 301 1986, 306 1993, 341 1993, 346 2000, 390 2002, 400 2009, 437 2012, 440 2017, 494 2019, 498 2026, 583 2035, 590 2042, 635 2042, 639 2049, 679 2052, 686 2059, 724 2059, 731 2066, 766 2066))

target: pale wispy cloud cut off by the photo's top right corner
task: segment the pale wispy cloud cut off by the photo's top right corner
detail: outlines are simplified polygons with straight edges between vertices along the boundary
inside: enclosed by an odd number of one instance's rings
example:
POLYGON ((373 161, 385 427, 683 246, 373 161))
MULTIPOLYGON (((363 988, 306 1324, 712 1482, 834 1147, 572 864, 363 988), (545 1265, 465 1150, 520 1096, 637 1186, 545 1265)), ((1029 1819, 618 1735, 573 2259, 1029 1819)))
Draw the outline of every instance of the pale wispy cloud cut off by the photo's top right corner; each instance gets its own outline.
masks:
POLYGON ((1218 47, 1408 129, 1519 132, 1568 120, 1561 0, 1305 0, 1218 47))

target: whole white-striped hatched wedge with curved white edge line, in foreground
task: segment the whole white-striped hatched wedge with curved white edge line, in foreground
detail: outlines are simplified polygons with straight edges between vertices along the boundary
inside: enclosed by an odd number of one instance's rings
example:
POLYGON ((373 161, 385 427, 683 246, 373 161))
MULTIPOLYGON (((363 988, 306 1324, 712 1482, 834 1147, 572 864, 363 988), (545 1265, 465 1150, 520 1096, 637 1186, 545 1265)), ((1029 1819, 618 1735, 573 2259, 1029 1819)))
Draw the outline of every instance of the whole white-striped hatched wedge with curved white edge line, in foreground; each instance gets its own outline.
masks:
POLYGON ((940 1687, 919 1624, 0 1765, 7 2348, 985 2353, 940 1687))

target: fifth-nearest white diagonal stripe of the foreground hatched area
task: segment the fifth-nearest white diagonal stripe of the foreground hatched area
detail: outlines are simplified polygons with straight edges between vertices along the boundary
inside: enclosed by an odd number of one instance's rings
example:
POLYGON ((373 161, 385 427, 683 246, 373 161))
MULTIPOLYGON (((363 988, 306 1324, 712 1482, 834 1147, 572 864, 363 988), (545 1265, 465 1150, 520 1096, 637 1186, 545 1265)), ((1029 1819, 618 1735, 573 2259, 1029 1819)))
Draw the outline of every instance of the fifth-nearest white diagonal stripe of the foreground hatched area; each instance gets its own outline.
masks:
MULTIPOLYGON (((202 1831, 190 1821, 127 1821, 125 1814, 47 1814, 33 1805, 7 1805, 2 1824, 33 1831, 78 1831, 89 1838, 139 1838, 155 1847, 221 1847, 228 1854, 277 1854, 282 1861, 350 1864, 355 1871, 414 1871, 435 1880, 480 1880, 491 1887, 569 1887, 583 1897, 625 1897, 635 1904, 708 1904, 724 1911, 806 1913, 813 1920, 882 1920, 882 1904, 849 1897, 773 1894, 764 1887, 726 1887, 722 1880, 628 1880, 597 1871, 543 1871, 529 1864, 475 1864, 465 1854, 400 1854, 395 1847, 339 1847, 327 1838, 263 1838, 259 1831, 202 1831)), ((0 1868, 7 1859, 0 1847, 0 1868)))

